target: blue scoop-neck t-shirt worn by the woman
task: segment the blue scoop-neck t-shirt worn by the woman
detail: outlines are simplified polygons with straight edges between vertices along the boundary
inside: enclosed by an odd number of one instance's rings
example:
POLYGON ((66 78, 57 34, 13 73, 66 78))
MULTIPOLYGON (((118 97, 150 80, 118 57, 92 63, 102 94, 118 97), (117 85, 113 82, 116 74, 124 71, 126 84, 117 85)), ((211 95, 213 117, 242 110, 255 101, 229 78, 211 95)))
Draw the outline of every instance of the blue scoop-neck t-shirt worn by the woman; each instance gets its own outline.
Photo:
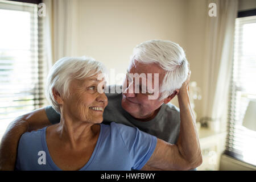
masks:
MULTIPOLYGON (((46 128, 22 135, 16 159, 17 170, 61 170, 49 155, 46 128)), ((150 159, 155 146, 156 137, 138 128, 114 122, 100 124, 100 135, 93 154, 80 170, 141 169, 150 159)))

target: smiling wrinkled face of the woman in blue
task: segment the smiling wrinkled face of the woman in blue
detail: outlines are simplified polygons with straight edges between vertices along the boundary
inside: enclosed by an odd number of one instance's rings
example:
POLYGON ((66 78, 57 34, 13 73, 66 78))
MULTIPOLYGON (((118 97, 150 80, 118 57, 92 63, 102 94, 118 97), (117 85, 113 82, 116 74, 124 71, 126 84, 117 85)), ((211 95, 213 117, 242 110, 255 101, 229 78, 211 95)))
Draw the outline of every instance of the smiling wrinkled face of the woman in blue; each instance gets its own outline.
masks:
POLYGON ((64 100, 63 113, 68 113, 73 121, 85 121, 90 123, 101 123, 102 114, 108 98, 104 89, 104 78, 97 80, 97 76, 85 78, 84 80, 73 80, 69 85, 70 95, 64 100), (100 93, 98 91, 101 91, 100 93))

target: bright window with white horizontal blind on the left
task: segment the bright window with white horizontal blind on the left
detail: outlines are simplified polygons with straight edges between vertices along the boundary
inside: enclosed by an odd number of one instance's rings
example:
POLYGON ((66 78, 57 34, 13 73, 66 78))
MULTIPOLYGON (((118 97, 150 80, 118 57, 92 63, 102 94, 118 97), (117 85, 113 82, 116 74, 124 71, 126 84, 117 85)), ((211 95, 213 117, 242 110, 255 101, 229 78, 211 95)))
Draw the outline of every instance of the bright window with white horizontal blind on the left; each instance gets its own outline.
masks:
POLYGON ((14 118, 44 105, 45 97, 43 31, 38 5, 0 1, 0 26, 2 132, 14 118))

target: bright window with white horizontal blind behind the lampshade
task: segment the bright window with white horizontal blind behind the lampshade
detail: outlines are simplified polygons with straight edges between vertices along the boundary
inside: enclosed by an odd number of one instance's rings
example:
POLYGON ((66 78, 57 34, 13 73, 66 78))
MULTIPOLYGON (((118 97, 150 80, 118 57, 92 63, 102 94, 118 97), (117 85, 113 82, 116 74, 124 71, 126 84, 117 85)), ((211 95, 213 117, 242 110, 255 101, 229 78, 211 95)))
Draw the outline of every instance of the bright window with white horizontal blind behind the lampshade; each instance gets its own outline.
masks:
POLYGON ((256 131, 243 127, 242 122, 249 101, 255 98, 256 16, 247 16, 236 19, 225 152, 254 166, 256 166, 256 131))

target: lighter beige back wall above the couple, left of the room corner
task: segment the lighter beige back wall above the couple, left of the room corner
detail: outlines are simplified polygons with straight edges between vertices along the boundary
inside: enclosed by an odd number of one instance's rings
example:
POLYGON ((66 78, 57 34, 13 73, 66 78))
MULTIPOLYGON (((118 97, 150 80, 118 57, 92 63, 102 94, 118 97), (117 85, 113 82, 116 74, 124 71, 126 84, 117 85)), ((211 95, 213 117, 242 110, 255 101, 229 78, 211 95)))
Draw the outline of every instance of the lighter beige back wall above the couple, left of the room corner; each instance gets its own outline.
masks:
POLYGON ((126 72, 133 48, 146 40, 185 46, 186 1, 79 1, 79 55, 126 72))

